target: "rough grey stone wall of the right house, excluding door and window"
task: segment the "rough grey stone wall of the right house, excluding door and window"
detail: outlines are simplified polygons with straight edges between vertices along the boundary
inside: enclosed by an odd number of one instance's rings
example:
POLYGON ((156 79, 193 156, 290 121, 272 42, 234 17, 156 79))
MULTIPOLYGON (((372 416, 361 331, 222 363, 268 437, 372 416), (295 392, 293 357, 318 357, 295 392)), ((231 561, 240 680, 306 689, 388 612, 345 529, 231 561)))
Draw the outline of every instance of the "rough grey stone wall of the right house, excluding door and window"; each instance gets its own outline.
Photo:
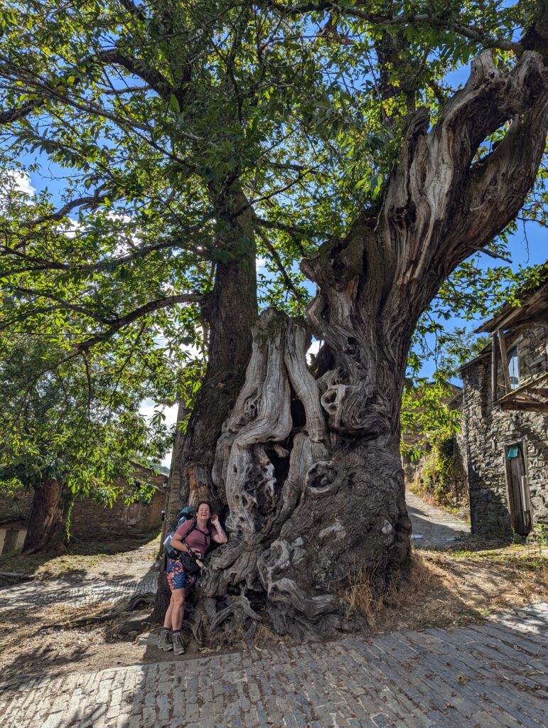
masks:
MULTIPOLYGON (((518 346, 520 385, 548 371, 547 329, 532 327, 509 336, 518 346)), ((491 352, 462 370, 464 395, 458 444, 470 488, 472 533, 512 532, 507 485, 507 447, 523 443, 533 528, 548 524, 548 415, 493 407, 491 352)), ((504 389, 499 361, 499 391, 504 389)))

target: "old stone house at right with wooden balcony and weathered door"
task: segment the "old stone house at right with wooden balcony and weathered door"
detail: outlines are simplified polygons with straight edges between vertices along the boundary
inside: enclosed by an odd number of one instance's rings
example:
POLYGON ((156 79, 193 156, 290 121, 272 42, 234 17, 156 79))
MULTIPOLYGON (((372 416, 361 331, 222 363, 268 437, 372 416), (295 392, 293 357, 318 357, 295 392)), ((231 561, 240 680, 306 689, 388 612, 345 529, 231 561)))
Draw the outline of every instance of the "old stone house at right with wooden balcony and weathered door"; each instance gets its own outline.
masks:
POLYGON ((461 368, 458 446, 475 534, 548 526, 548 280, 519 297, 477 329, 491 341, 461 368))

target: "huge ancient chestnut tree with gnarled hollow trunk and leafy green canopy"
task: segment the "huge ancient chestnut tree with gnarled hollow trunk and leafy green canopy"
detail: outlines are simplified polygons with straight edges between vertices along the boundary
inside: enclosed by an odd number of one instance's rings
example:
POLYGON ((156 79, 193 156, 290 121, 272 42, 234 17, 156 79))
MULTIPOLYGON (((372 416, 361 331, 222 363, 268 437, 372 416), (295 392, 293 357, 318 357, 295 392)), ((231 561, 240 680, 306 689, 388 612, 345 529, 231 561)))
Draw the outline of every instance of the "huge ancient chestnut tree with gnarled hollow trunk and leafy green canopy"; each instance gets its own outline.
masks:
POLYGON ((172 513, 209 496, 229 543, 208 559, 196 636, 253 630, 262 608, 280 633, 344 628, 354 574, 382 593, 409 568, 411 338, 535 185, 547 18, 533 3, 112 0, 12 3, 3 23, 9 154, 70 170, 63 205, 42 191, 25 226, 4 221, 19 325, 47 328, 55 300, 74 356, 142 318, 174 346, 199 339, 172 513))

